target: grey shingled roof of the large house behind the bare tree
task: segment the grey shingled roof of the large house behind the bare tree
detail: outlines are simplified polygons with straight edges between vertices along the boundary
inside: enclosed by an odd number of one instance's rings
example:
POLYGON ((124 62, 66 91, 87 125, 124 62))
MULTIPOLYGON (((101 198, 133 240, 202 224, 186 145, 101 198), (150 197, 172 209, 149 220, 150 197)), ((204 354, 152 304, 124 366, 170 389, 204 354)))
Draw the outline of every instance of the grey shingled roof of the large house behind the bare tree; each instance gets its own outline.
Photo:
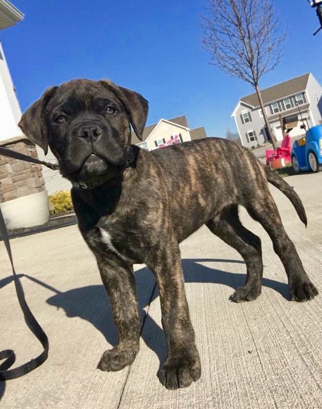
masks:
MULTIPOLYGON (((269 102, 277 101, 284 97, 288 97, 297 92, 304 91, 306 89, 309 76, 310 73, 307 73, 299 77, 289 79, 288 81, 281 82, 280 84, 273 85, 272 87, 265 88, 264 90, 261 90, 260 93, 264 105, 269 102)), ((241 102, 247 103, 253 107, 259 105, 256 93, 241 98, 241 102)))

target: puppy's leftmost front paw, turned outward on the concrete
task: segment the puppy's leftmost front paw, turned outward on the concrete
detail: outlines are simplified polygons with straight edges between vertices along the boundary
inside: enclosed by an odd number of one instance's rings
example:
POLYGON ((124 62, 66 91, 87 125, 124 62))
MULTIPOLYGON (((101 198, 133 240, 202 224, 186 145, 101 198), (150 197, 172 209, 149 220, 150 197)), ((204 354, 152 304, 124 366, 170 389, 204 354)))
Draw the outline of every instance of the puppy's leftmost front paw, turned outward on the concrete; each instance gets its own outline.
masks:
POLYGON ((131 365, 138 353, 139 348, 121 348, 116 346, 104 352, 97 368, 101 371, 120 371, 127 365, 131 365))

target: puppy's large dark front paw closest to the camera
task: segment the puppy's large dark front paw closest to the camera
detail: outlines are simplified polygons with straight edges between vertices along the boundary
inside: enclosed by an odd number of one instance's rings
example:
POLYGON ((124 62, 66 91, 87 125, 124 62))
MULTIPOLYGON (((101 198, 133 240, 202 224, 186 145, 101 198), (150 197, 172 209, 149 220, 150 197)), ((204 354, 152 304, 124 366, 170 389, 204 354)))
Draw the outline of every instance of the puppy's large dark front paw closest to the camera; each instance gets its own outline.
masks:
POLYGON ((177 357, 168 357, 164 363, 159 378, 167 389, 186 388, 201 375, 201 366, 198 351, 194 354, 182 354, 177 357))

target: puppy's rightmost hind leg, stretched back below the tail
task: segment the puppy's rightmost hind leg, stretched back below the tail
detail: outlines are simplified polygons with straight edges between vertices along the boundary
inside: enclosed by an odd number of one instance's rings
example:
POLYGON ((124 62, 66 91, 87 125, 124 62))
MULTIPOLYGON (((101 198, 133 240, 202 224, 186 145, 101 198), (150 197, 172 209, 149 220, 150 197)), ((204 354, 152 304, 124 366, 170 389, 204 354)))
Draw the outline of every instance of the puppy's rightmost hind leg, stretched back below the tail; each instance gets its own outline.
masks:
POLYGON ((311 300, 318 290, 304 271, 293 242, 284 230, 278 208, 267 189, 264 196, 251 197, 246 205, 250 216, 258 221, 273 241, 273 248, 280 257, 288 277, 292 301, 311 300))

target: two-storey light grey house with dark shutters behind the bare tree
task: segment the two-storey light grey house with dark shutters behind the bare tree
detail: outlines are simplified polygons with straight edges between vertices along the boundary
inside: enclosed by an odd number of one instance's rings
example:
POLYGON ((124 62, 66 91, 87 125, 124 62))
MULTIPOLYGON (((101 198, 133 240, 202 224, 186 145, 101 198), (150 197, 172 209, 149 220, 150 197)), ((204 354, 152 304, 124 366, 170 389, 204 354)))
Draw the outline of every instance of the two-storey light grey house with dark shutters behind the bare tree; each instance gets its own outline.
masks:
MULTIPOLYGON (((311 73, 281 82, 261 91, 268 121, 276 140, 284 133, 291 137, 305 134, 322 124, 322 87, 311 73)), ((267 141, 267 133, 257 94, 241 98, 231 115, 235 118, 244 146, 252 148, 267 141)))

